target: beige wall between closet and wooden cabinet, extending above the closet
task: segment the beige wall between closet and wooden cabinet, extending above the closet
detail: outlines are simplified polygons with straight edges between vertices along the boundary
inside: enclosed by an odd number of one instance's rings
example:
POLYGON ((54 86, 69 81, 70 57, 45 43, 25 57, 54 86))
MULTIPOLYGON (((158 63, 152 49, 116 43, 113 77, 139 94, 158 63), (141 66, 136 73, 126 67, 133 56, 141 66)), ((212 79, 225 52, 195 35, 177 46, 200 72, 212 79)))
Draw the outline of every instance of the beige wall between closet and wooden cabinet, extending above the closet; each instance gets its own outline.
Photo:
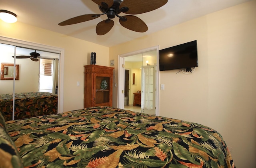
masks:
POLYGON ((90 64, 90 53, 96 52, 98 65, 109 65, 108 47, 20 22, 7 24, 0 20, 0 36, 64 48, 63 111, 84 108, 84 65, 90 64), (80 86, 76 86, 77 81, 80 86))

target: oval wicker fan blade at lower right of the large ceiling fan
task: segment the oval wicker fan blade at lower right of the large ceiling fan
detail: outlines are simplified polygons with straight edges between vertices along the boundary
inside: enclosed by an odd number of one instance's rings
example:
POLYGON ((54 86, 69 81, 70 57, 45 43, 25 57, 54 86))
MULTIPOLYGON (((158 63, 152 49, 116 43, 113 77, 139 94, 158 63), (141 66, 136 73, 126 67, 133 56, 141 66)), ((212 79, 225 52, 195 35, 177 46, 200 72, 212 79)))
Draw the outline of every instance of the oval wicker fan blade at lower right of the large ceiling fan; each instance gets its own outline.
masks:
POLYGON ((119 22, 125 28, 128 28, 134 32, 146 32, 148 26, 143 20, 133 15, 126 15, 119 18, 119 22))

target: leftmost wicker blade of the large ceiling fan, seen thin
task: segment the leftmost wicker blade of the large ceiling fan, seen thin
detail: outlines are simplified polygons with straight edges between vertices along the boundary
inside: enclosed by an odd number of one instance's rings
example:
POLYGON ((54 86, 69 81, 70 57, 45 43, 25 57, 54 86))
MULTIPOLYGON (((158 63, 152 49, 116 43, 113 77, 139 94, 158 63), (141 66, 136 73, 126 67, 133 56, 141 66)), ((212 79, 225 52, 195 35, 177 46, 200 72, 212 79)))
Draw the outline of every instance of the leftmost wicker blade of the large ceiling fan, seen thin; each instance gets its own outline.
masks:
POLYGON ((76 23, 81 23, 81 22, 86 22, 88 20, 93 20, 100 17, 99 14, 84 14, 81 16, 76 16, 74 18, 65 20, 63 22, 60 22, 58 25, 60 26, 66 26, 66 25, 70 25, 70 24, 76 24, 76 23))

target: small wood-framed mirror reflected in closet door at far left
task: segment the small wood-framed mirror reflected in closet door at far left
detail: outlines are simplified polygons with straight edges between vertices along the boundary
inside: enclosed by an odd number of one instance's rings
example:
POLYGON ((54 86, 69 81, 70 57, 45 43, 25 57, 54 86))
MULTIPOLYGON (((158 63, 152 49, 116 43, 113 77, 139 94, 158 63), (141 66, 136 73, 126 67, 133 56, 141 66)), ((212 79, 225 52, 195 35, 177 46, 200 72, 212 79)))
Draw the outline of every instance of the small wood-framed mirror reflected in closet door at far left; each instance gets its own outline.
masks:
MULTIPOLYGON (((19 80, 19 65, 15 65, 15 80, 19 80)), ((1 63, 0 80, 13 80, 14 64, 1 63)))

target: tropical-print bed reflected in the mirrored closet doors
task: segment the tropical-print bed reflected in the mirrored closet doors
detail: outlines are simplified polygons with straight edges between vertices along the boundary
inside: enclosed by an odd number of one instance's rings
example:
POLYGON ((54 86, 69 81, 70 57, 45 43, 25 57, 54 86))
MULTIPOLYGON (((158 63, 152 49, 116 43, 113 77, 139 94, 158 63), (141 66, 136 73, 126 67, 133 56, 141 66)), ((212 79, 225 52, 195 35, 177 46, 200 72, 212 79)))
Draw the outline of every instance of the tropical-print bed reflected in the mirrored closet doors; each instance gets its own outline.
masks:
MULTIPOLYGON (((6 121, 12 120, 13 94, 0 94, 0 111, 6 121)), ((58 95, 49 92, 15 93, 14 119, 56 114, 58 95)))

